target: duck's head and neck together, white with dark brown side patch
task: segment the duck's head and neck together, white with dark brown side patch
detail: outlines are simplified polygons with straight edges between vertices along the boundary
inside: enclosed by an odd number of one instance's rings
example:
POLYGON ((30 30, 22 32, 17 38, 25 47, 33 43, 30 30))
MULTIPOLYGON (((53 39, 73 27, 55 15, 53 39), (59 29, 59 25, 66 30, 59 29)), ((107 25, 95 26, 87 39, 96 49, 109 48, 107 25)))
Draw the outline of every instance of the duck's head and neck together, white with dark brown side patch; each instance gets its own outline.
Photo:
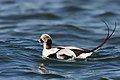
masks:
POLYGON ((44 49, 52 48, 52 39, 48 34, 42 34, 38 41, 43 44, 44 49))

